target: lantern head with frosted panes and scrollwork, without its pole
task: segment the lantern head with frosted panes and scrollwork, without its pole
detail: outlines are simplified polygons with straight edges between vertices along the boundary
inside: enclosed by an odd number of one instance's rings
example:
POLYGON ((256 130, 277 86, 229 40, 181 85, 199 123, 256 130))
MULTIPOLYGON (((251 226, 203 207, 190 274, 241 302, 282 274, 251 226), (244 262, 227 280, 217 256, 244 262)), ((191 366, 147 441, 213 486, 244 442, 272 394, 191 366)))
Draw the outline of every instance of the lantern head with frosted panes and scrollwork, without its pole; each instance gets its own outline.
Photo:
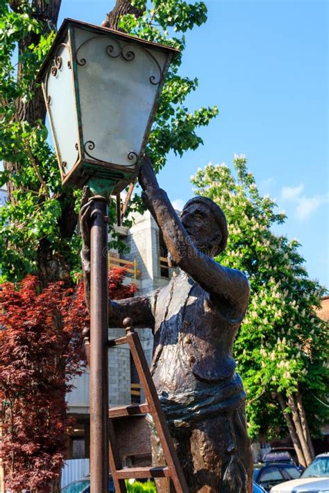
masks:
POLYGON ((63 184, 117 194, 135 178, 169 63, 178 53, 65 19, 37 76, 63 184))

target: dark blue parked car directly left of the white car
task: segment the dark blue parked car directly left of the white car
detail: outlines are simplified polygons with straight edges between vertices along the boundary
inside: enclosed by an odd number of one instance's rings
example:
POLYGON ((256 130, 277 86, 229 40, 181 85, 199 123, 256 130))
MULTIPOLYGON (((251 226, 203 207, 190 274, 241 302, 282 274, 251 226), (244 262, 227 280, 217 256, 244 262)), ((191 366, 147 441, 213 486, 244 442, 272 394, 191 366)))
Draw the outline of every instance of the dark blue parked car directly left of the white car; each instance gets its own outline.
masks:
POLYGON ((289 479, 299 478, 301 472, 296 465, 290 462, 268 462, 255 464, 253 467, 253 481, 269 491, 272 486, 289 479))

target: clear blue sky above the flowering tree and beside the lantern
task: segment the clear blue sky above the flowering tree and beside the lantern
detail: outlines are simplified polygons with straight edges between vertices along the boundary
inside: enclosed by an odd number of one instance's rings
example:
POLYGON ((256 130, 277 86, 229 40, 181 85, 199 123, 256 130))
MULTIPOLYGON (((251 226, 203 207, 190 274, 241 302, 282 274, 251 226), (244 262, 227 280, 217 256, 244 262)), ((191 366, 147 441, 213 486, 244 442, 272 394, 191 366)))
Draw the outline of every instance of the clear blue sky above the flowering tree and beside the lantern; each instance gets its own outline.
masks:
MULTIPOLYGON (((187 33, 181 74, 199 78, 189 108, 217 105, 204 146, 170 155, 159 181, 180 207, 208 162, 248 158, 262 193, 288 220, 277 232, 302 243, 311 277, 328 273, 328 2, 205 0, 208 22, 187 33)), ((65 17, 101 24, 111 0, 62 0, 65 17)))

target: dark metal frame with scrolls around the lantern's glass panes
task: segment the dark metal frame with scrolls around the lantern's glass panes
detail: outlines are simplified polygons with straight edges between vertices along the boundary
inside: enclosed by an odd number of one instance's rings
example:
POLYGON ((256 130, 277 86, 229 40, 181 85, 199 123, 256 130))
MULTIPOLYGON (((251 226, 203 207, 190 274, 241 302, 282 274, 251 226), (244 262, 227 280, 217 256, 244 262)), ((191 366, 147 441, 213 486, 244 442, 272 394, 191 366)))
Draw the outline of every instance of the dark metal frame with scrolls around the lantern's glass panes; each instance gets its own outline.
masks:
MULTIPOLYGON (((42 92, 44 94, 44 101, 47 107, 47 112, 49 114, 49 121, 51 126, 51 133, 53 135, 53 142, 56 147, 56 155, 58 157, 58 164, 60 167, 60 174, 62 177, 62 183, 65 185, 73 186, 75 188, 81 188, 87 182, 96 180, 99 183, 104 182, 112 183, 111 193, 120 193, 130 182, 136 177, 139 167, 140 167, 140 157, 144 153, 144 148, 146 146, 146 141, 149 137, 149 132, 151 130, 151 125, 153 123, 155 111, 158 106, 158 101, 160 98, 160 93, 162 85, 165 80, 165 73, 169 67, 169 64, 173 58, 178 55, 179 51, 171 48, 170 46, 165 46, 162 44, 155 44, 142 40, 138 37, 128 35, 126 33, 121 33, 109 28, 103 28, 100 26, 94 26, 93 24, 87 24, 85 22, 76 21, 74 19, 65 19, 60 27, 56 39, 51 46, 51 49, 45 58, 42 67, 37 74, 37 82, 42 85, 42 92), (74 28, 80 28, 90 33, 94 33, 94 36, 87 39, 80 46, 76 46, 76 40, 74 36, 74 28), (78 57, 78 51, 81 47, 94 40, 96 37, 108 36, 117 42, 117 46, 109 44, 106 46, 106 53, 111 58, 121 58, 126 62, 134 60, 135 53, 133 51, 134 47, 141 49, 146 53, 146 55, 151 58, 155 64, 155 68, 159 71, 158 78, 155 76, 149 77, 149 82, 152 85, 158 86, 158 91, 155 96, 153 107, 149 115, 149 121, 146 125, 146 130, 144 132, 144 137, 142 139, 142 145, 140 147, 140 152, 137 154, 133 150, 128 150, 128 159, 131 161, 131 165, 122 165, 119 163, 109 163, 102 159, 98 159, 92 155, 92 150, 95 148, 95 143, 92 140, 88 140, 83 136, 83 122, 81 116, 81 101, 79 97, 79 87, 78 87, 78 65, 83 66, 86 64, 87 60, 85 58, 78 57), (67 40, 67 42, 65 42, 67 40), (121 43, 124 43, 121 46, 121 43), (64 46, 69 53, 69 61, 67 62, 68 69, 71 70, 72 74, 72 85, 74 89, 74 103, 75 103, 75 114, 76 114, 76 130, 78 134, 78 141, 75 143, 77 157, 76 162, 71 167, 71 169, 66 173, 65 166, 66 162, 62 162, 60 158, 60 148, 56 138, 56 132, 54 130, 54 123, 51 116, 51 96, 47 94, 47 82, 49 77, 56 76, 58 70, 62 68, 62 57, 58 55, 60 48, 64 46), (119 50, 118 50, 119 49, 119 50), (152 55, 150 50, 161 51, 162 53, 167 53, 167 60, 163 69, 160 67, 158 60, 152 55), (79 171, 77 171, 77 168, 79 171)), ((107 185, 108 186, 108 185, 107 185)), ((103 187, 104 188, 104 187, 103 187)), ((106 187, 105 187, 106 188, 106 187)))

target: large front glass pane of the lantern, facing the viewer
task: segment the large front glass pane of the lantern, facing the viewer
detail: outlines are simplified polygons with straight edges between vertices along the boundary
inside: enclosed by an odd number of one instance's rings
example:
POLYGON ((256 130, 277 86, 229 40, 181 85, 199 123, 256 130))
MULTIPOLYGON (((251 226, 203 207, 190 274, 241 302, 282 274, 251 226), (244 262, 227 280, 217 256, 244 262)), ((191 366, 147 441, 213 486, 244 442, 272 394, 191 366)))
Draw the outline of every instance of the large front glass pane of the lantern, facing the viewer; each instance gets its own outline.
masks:
POLYGON ((140 155, 167 55, 74 29, 87 159, 132 166, 140 155))

